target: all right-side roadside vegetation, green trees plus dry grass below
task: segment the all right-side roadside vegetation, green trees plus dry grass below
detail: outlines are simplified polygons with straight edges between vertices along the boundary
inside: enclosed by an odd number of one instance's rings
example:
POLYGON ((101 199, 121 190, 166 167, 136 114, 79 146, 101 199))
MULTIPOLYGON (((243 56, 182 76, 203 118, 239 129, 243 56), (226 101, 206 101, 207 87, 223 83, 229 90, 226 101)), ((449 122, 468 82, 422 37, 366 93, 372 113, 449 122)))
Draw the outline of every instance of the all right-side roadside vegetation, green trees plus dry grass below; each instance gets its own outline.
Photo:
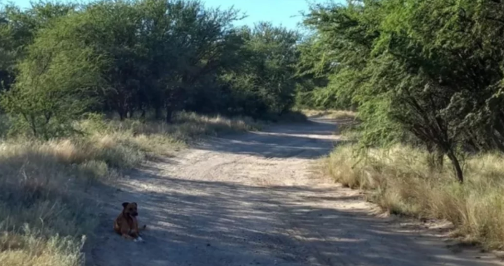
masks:
POLYGON ((503 21, 501 1, 311 6, 297 102, 358 113, 326 173, 393 214, 504 248, 503 21))

